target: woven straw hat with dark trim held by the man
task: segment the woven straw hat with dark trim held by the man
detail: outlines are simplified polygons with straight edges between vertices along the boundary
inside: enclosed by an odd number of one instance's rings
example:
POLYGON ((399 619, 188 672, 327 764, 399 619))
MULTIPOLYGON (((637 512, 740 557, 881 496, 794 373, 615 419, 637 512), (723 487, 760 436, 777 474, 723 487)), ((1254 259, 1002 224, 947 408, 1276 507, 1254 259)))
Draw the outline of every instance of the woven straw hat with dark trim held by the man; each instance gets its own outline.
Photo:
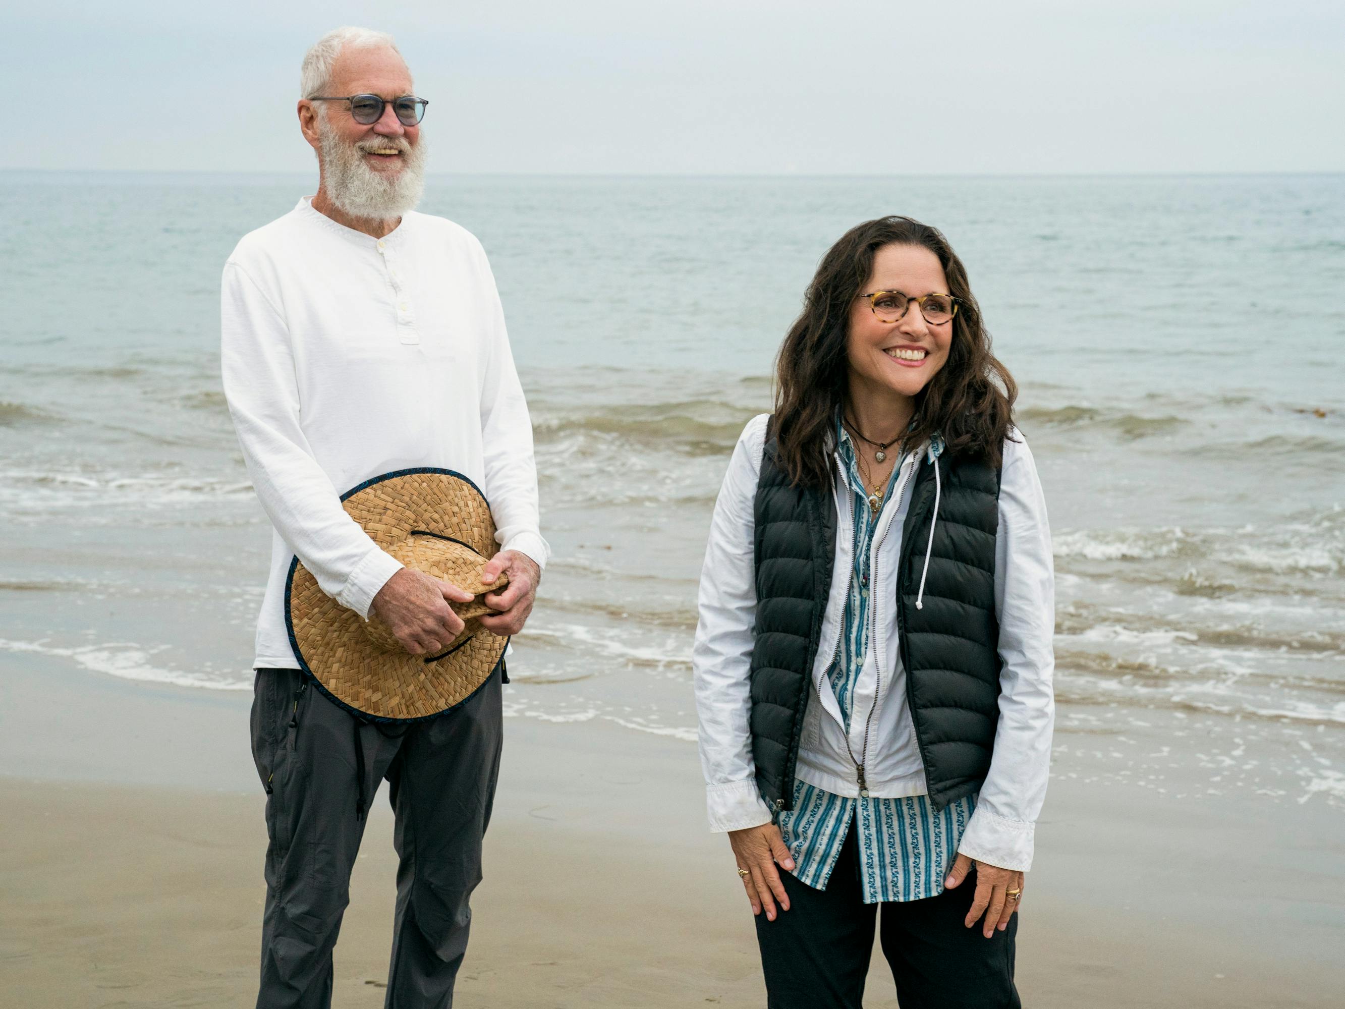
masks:
POLYGON ((408 568, 451 581, 476 596, 449 603, 467 622, 436 655, 412 655, 378 618, 360 616, 317 585, 296 557, 285 583, 285 622, 299 665, 334 701, 373 720, 429 718, 465 701, 504 654, 508 638, 491 634, 480 596, 508 578, 482 583, 499 549, 490 504, 476 484, 452 470, 398 470, 367 480, 342 504, 370 538, 408 568))

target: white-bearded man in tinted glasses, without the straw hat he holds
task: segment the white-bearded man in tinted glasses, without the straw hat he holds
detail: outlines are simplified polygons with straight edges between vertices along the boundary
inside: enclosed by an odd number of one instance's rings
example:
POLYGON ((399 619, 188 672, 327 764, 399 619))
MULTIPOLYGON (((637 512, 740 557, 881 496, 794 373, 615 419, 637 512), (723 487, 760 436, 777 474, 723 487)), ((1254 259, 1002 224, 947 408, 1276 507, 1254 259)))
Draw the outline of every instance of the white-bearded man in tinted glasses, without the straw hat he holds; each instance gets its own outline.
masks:
MULTIPOLYGON (((397 915, 387 1006, 449 1006, 467 948, 502 743, 503 662, 428 721, 389 726, 334 702, 296 658, 286 577, 377 616, 413 655, 463 630, 472 595, 404 568, 342 509, 393 471, 465 475, 490 502, 499 553, 482 624, 516 634, 549 548, 538 529, 527 405, 480 242, 413 213, 426 102, 390 36, 340 28, 303 63, 299 122, 316 195, 246 235, 223 273, 225 393, 274 526, 257 626, 252 747, 265 786, 266 905, 257 1005, 328 1006, 332 947, 369 800, 390 782, 397 915)), ((426 659, 429 661, 429 659, 426 659)))

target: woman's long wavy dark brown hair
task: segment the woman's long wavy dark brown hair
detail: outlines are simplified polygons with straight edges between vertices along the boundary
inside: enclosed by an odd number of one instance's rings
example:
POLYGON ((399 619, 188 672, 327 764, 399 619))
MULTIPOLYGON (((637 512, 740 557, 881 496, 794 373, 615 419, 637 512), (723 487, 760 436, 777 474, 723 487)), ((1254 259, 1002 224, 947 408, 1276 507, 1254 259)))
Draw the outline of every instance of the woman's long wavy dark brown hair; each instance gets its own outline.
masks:
MULTIPOLYGON (((803 313, 790 327, 775 362, 775 416, 780 463, 795 484, 831 486, 827 440, 846 406, 846 343, 850 307, 873 273, 885 245, 917 245, 939 257, 948 293, 960 299, 952 317, 948 359, 915 397, 915 426, 902 445, 939 433, 952 455, 975 455, 998 467, 1013 424, 1018 386, 990 352, 990 334, 971 293, 967 270, 943 233, 908 217, 881 217, 846 231, 822 257, 804 295, 803 313)), ((916 309, 919 311, 919 309, 916 309)))

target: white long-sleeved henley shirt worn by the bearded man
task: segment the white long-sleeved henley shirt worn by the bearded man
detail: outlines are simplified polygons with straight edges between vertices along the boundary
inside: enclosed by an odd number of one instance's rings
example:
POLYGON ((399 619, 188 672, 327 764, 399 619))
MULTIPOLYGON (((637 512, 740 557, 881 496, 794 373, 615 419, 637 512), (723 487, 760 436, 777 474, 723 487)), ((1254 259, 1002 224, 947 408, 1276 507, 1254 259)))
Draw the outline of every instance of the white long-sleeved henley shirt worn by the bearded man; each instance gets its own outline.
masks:
POLYGON ((254 666, 297 669, 285 578, 297 554, 360 616, 401 562, 340 506, 364 480, 412 467, 480 487, 495 538, 546 565, 533 428, 482 244, 409 213, 373 238, 308 198, 243 237, 225 264, 225 397, 274 529, 254 666))

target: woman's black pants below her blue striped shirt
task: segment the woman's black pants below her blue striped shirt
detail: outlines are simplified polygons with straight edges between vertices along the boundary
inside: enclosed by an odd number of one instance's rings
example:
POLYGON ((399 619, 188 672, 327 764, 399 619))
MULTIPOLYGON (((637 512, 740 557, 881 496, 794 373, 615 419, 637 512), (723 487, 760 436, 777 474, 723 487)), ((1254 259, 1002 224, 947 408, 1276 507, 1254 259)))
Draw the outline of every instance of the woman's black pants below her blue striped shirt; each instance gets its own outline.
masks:
MULTIPOLYGON (((862 903, 859 849, 851 829, 824 891, 780 872, 790 909, 757 915, 769 1009, 859 1009, 878 904, 862 903)), ((882 954, 901 1009, 1018 1009, 1013 985, 1018 916, 987 939, 971 909, 976 874, 937 897, 882 907, 882 954)))

